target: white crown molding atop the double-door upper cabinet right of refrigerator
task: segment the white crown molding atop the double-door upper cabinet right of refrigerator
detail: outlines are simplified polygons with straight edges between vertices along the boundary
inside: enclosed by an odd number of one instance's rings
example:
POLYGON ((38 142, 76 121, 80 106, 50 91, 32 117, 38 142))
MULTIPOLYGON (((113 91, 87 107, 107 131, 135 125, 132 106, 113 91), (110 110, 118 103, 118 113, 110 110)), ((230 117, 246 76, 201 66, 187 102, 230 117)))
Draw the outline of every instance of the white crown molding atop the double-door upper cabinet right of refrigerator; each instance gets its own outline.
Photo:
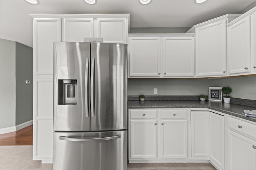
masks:
POLYGON ((194 37, 194 33, 130 33, 128 37, 194 37))

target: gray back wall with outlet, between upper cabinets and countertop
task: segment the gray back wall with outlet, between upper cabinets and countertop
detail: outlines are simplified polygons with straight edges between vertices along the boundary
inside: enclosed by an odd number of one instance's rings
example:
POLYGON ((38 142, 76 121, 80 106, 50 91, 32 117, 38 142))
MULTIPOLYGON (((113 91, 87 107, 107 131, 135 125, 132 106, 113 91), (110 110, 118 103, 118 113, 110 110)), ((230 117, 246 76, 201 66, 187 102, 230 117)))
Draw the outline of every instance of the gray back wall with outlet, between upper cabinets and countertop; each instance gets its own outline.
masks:
POLYGON ((153 96, 153 88, 158 88, 159 96, 208 95, 208 87, 216 86, 215 79, 129 79, 128 96, 140 94, 153 96))

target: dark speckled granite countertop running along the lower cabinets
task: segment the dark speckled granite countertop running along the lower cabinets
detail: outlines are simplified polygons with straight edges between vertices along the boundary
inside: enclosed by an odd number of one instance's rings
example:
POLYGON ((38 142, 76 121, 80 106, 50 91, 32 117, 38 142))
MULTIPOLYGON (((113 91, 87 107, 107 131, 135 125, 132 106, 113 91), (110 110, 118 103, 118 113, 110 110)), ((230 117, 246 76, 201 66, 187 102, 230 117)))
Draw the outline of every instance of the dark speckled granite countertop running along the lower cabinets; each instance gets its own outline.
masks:
POLYGON ((227 104, 223 102, 211 101, 202 102, 177 100, 145 100, 141 102, 138 100, 128 100, 128 109, 137 108, 206 108, 256 122, 255 117, 246 117, 242 114, 244 110, 256 110, 256 107, 244 106, 240 104, 227 104))

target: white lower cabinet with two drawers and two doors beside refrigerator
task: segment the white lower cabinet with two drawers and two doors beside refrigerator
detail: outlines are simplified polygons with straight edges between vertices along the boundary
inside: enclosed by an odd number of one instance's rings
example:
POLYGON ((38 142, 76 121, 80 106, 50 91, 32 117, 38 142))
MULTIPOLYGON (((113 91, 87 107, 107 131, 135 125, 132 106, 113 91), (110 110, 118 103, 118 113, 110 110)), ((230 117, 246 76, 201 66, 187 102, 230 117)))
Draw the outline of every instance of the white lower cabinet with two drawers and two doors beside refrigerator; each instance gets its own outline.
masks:
POLYGON ((188 158, 187 112, 129 109, 129 160, 188 158))

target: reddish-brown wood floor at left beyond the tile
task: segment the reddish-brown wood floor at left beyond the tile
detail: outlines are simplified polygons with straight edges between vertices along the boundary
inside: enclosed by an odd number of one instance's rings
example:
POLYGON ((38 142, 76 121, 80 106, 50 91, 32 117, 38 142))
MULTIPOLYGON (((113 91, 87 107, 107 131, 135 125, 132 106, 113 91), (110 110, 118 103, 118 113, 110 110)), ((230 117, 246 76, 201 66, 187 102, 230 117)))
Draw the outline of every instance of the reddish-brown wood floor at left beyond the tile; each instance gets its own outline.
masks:
POLYGON ((33 125, 20 129, 16 132, 0 135, 1 145, 32 145, 33 144, 33 125))

